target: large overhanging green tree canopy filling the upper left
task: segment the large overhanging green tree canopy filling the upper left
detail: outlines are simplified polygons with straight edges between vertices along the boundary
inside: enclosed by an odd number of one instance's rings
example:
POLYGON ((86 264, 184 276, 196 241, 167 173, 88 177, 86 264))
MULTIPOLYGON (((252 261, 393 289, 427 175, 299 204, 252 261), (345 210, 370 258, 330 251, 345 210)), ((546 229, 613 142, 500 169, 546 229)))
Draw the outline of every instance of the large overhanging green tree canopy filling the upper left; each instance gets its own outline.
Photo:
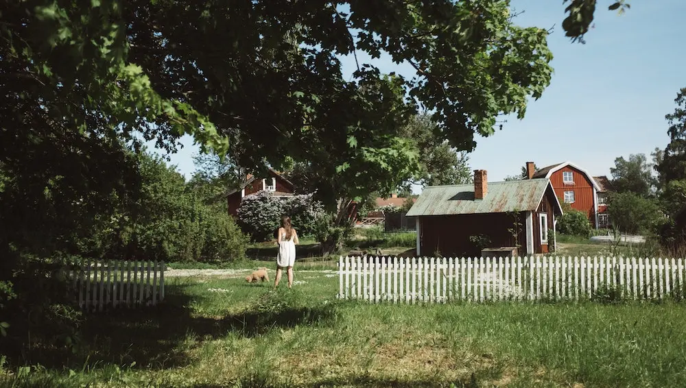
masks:
MULTIPOLYGON (((594 7, 571 1, 569 36, 582 36, 594 7)), ((192 134, 250 170, 326 161, 336 165, 322 176, 351 182, 335 196, 357 197, 367 182, 388 191, 418 168, 398 132, 418 104, 438 138, 470 151, 499 115, 521 119, 552 73, 548 32, 515 25, 505 0, 36 0, 0 12, 5 251, 10 241, 64 245, 67 220, 87 225, 134 184, 122 144, 175 149, 192 134), (338 56, 357 52, 388 53, 416 77, 359 63, 344 80, 338 56), (33 233, 37 224, 56 227, 33 233)))

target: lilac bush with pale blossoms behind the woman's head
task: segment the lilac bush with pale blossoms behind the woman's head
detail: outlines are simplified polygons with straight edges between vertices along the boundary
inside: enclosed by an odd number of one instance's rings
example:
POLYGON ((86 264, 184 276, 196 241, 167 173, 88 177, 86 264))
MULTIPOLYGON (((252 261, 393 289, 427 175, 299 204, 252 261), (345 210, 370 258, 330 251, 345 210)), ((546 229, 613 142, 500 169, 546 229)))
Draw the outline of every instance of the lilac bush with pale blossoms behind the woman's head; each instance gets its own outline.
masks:
POLYGON ((299 236, 315 234, 316 219, 324 214, 323 206, 311 195, 274 197, 268 191, 260 191, 243 199, 237 210, 238 223, 252 241, 268 241, 275 238, 281 225, 281 217, 291 217, 299 236))

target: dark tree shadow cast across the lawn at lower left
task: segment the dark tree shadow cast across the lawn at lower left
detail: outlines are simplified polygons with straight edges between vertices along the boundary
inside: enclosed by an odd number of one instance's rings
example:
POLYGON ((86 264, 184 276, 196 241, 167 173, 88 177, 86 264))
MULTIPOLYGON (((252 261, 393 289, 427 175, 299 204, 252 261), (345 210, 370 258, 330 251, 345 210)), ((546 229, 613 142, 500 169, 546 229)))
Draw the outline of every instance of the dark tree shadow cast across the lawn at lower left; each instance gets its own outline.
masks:
POLYGON ((273 311, 198 317, 190 306, 204 298, 190 295, 187 287, 169 284, 165 302, 158 306, 86 313, 80 344, 73 352, 67 348, 36 349, 29 355, 31 363, 49 369, 82 369, 96 364, 153 370, 183 367, 191 363, 188 352, 198 342, 232 332, 256 337, 281 328, 331 322, 333 317, 330 306, 285 306, 273 311))

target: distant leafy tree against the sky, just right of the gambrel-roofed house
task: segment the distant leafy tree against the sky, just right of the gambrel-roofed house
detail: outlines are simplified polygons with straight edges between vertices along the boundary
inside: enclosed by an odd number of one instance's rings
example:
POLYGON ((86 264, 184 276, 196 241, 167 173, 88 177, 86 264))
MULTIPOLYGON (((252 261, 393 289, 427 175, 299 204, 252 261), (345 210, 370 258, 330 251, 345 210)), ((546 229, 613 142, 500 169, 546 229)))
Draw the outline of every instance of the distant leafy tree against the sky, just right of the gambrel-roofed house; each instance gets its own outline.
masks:
POLYGON ((610 168, 613 189, 618 193, 649 197, 658 183, 652 171, 652 165, 644 154, 631 154, 628 160, 620 156, 615 159, 615 167, 610 168))

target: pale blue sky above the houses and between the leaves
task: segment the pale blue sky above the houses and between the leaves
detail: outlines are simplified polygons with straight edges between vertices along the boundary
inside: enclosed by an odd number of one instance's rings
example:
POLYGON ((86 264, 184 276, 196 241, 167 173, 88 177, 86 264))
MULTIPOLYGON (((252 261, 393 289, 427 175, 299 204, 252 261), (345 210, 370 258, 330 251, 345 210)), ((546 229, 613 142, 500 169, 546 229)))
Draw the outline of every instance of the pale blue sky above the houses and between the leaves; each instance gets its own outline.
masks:
MULTIPOLYGON (((519 173, 525 162, 543 167, 571 160, 594 175, 610 175, 615 158, 646 154, 669 141, 665 114, 676 107, 674 98, 686 87, 686 53, 683 51, 684 0, 628 0, 631 9, 622 16, 608 11, 613 1, 599 1, 595 28, 585 45, 571 43, 561 27, 562 1, 513 0, 515 23, 553 27, 548 46, 553 52, 550 86, 537 101, 531 100, 523 120, 508 119, 493 136, 477 137, 469 154, 472 169, 486 169, 488 180, 519 173), (545 4, 545 5, 543 5, 545 4)), ((388 57, 371 60, 384 73, 411 77, 414 69, 394 64, 388 57)), ((352 56, 342 58, 344 75, 355 69, 352 56)), ((189 136, 171 154, 171 164, 190 178, 198 152, 189 136)), ((149 145, 154 148, 153 144, 149 145)))

